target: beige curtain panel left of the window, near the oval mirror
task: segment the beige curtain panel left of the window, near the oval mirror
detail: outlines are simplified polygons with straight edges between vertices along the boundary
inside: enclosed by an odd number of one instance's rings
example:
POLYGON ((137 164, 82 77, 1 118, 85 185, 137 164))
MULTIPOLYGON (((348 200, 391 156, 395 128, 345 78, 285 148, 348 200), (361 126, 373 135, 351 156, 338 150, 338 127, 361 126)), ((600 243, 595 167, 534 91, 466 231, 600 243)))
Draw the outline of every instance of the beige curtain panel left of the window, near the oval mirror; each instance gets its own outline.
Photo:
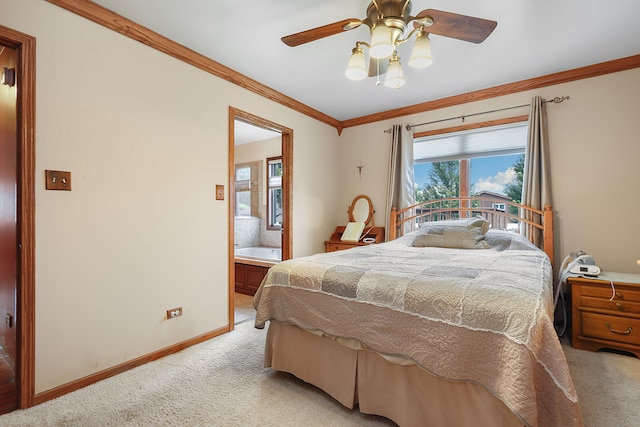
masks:
MULTIPOLYGON (((391 155, 387 181, 387 206, 385 211, 386 236, 389 240, 390 212, 392 207, 403 209, 415 203, 413 179, 413 130, 404 124, 391 129, 391 155)), ((405 232, 411 224, 406 224, 405 232)))

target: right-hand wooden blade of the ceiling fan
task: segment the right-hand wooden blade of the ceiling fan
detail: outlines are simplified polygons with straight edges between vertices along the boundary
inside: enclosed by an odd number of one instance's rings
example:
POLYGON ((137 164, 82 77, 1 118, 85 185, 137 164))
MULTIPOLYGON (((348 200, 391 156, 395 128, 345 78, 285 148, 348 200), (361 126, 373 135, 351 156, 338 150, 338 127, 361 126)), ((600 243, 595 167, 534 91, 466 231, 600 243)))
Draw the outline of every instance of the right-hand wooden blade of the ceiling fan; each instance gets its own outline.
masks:
MULTIPOLYGON (((435 9, 425 9, 415 18, 419 20, 427 16, 433 19, 433 24, 430 27, 425 27, 428 33, 471 43, 482 43, 498 25, 496 21, 435 9)), ((414 22, 413 25, 420 26, 418 22, 414 22)))

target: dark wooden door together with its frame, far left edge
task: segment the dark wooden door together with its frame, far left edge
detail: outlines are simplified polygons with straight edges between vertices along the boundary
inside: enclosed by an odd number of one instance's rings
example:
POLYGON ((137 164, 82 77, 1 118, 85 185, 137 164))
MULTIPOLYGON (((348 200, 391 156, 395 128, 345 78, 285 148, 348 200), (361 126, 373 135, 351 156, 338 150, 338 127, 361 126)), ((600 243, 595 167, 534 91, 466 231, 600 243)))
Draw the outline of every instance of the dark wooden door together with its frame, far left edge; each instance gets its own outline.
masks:
POLYGON ((7 333, 8 347, 13 347, 15 355, 17 406, 28 408, 39 403, 34 378, 36 40, 0 25, 0 45, 5 46, 6 58, 9 53, 12 57, 2 61, 11 62, 7 68, 15 68, 15 85, 0 84, 4 94, 0 95, 0 292, 12 299, 0 308, 0 324, 5 329, 0 334, 7 333))

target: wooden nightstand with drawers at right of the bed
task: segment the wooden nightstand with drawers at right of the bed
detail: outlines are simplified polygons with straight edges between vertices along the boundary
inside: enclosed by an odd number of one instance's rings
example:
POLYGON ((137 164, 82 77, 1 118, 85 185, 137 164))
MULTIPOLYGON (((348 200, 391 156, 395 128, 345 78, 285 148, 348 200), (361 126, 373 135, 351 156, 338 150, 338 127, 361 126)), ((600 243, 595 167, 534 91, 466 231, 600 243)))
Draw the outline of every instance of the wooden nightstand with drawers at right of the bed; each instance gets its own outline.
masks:
POLYGON ((570 277, 567 283, 571 345, 591 351, 622 350, 640 357, 640 275, 605 272, 592 279, 570 277))

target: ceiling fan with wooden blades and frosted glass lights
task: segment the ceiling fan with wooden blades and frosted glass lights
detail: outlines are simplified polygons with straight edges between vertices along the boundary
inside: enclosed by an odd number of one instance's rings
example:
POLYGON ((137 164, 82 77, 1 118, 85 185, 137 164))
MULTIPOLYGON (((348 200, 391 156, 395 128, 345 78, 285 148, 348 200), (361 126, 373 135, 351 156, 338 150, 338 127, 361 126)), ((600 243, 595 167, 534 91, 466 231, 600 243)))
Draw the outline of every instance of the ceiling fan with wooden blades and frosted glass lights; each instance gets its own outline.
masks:
MULTIPOLYGON (((429 34, 482 43, 498 25, 495 21, 435 9, 425 9, 413 16, 411 0, 372 0, 364 19, 345 19, 284 36, 281 40, 287 46, 294 47, 353 30, 362 24, 369 27, 371 41, 356 43, 345 72, 346 76, 353 80, 361 80, 367 76, 387 73, 385 86, 395 88, 404 84, 397 47, 414 35, 416 39, 408 63, 413 67, 426 67, 432 62, 429 34), (411 30, 410 24, 413 24, 411 30), (363 46, 369 49, 368 71, 363 46)), ((377 84, 379 83, 378 81, 377 84)))

